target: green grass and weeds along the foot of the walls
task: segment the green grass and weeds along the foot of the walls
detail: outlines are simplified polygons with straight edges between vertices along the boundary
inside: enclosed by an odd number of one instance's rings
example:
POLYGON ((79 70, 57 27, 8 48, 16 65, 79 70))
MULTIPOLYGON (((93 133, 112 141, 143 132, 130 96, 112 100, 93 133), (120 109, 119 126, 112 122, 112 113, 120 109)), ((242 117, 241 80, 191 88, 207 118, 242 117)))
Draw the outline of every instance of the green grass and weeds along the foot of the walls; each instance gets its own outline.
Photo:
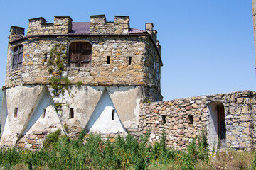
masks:
POLYGON ((0 169, 255 169, 254 152, 219 152, 210 157, 206 137, 201 133, 186 151, 167 148, 163 133, 151 145, 149 134, 136 140, 131 135, 111 143, 100 135, 78 140, 60 136, 60 130, 46 137, 35 151, 16 147, 0 149, 0 169))

